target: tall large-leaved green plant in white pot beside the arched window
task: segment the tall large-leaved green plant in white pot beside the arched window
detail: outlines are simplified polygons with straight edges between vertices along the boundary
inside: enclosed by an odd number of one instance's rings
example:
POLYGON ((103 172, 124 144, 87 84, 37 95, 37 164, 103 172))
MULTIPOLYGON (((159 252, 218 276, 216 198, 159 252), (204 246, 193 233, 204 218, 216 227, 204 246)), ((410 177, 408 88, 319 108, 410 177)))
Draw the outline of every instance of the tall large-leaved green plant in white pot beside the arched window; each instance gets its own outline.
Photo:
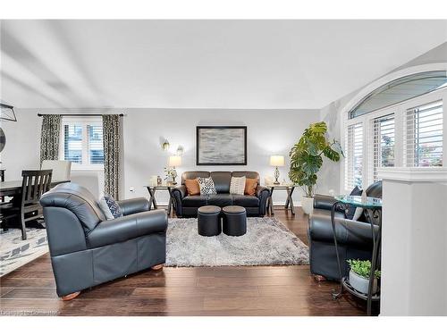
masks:
POLYGON ((325 122, 310 124, 299 141, 291 148, 291 170, 289 178, 304 190, 301 206, 304 213, 311 214, 314 208, 314 194, 318 173, 323 165, 323 157, 338 162, 342 153, 340 142, 327 138, 325 122))

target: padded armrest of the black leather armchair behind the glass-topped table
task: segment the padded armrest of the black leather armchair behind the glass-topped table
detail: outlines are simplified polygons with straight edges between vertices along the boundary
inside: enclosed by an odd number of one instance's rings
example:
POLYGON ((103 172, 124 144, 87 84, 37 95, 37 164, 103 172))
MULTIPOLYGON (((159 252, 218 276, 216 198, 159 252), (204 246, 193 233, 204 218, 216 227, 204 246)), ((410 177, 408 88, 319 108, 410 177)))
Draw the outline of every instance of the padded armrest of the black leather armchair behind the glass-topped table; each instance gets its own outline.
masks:
MULTIPOLYGON (((378 226, 375 226, 377 232, 378 226)), ((370 250, 373 247, 371 225, 341 217, 335 217, 335 234, 341 245, 370 250)), ((308 236, 311 241, 333 244, 331 215, 312 214, 308 221, 308 236)))

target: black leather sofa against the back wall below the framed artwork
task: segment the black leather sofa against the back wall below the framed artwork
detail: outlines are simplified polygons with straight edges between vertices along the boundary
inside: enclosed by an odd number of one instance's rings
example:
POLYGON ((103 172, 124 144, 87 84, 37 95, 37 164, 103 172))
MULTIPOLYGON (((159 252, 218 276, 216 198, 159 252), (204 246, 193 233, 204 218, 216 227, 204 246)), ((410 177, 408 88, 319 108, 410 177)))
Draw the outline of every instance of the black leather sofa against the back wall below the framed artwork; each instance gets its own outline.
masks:
POLYGON ((175 212, 178 217, 197 217, 198 207, 202 205, 240 205, 245 207, 248 216, 264 216, 266 214, 266 201, 270 190, 259 185, 259 173, 250 171, 236 172, 207 172, 191 171, 181 174, 181 185, 173 188, 175 212), (232 177, 247 177, 257 179, 255 196, 238 196, 230 194, 230 181, 232 177), (215 183, 217 194, 188 196, 184 180, 193 180, 198 177, 211 177, 215 183))

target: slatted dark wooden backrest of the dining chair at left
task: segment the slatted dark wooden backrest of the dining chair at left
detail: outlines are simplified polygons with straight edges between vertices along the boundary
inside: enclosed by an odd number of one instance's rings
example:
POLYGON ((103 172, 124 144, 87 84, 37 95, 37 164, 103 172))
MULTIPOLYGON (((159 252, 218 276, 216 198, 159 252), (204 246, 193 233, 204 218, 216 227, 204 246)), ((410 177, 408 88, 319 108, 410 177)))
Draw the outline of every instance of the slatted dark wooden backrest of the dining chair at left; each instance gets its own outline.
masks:
POLYGON ((21 172, 21 205, 36 204, 50 189, 52 170, 24 170, 21 172))

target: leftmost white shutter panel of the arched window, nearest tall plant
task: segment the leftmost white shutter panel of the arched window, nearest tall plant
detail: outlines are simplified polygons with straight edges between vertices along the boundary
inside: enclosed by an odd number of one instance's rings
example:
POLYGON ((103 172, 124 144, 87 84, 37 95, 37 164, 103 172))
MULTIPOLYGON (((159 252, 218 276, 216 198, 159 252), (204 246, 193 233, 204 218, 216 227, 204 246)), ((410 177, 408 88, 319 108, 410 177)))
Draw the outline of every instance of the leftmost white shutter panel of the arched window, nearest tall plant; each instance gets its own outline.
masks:
POLYGON ((345 188, 351 189, 362 185, 363 170, 363 125, 351 124, 345 136, 345 188))

